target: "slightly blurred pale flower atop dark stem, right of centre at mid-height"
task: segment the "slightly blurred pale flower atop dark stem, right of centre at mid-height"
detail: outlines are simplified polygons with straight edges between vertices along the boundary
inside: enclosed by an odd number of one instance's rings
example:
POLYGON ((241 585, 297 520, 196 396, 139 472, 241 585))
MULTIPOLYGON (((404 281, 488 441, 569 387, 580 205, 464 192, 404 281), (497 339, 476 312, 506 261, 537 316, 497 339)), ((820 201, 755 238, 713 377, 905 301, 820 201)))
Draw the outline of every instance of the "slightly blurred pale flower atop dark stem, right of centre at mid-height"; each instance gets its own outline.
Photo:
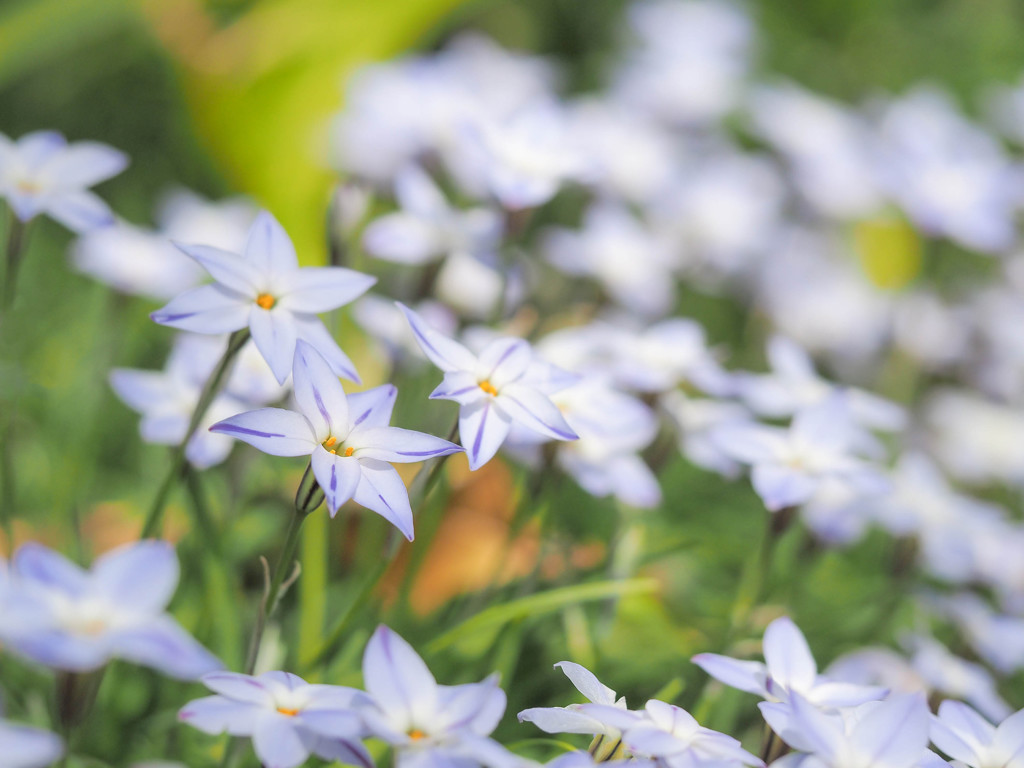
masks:
POLYGON ((788 429, 723 425, 714 439, 727 455, 752 466, 754 489, 772 512, 810 501, 829 478, 865 495, 888 487, 882 472, 855 455, 864 440, 841 395, 799 411, 788 429))

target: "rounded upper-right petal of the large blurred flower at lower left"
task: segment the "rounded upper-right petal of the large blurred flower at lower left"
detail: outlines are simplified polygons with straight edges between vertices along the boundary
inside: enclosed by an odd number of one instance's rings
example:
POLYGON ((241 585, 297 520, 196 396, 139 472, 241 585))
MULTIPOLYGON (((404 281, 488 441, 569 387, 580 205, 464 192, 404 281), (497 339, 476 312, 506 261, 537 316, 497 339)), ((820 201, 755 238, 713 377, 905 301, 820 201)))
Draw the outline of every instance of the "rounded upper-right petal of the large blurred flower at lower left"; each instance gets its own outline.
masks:
POLYGON ((158 613, 178 586, 178 557, 170 542, 135 542, 111 550, 92 566, 92 587, 112 605, 158 613))

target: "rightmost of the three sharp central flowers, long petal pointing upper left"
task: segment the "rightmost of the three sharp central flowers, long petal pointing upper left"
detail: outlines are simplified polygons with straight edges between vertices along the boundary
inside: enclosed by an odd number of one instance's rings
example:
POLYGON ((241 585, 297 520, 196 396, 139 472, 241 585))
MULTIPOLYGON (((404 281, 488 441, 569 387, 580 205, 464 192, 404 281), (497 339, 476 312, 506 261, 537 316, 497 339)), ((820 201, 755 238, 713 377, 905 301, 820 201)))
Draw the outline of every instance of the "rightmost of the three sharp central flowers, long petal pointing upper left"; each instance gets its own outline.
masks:
POLYGON ((409 318, 423 353, 444 372, 431 399, 459 403, 459 436, 467 446, 469 468, 479 469, 498 453, 512 422, 555 440, 574 440, 572 431, 547 394, 527 383, 532 353, 522 339, 499 338, 479 356, 437 333, 409 307, 409 318))

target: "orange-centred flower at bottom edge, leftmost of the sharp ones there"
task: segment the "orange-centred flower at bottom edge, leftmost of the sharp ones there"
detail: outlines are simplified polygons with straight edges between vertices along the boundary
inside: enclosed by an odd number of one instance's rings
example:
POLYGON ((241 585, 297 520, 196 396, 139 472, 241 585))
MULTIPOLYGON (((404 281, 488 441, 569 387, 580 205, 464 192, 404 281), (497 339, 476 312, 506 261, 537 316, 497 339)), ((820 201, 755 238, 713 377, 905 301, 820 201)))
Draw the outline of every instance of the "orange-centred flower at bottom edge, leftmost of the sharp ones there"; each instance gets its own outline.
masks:
POLYGON ((362 721, 355 702, 361 691, 338 685, 310 685, 288 672, 259 677, 231 672, 203 676, 216 695, 181 708, 178 719, 206 733, 251 736, 266 768, 295 768, 310 753, 329 762, 371 768, 362 745, 362 721))

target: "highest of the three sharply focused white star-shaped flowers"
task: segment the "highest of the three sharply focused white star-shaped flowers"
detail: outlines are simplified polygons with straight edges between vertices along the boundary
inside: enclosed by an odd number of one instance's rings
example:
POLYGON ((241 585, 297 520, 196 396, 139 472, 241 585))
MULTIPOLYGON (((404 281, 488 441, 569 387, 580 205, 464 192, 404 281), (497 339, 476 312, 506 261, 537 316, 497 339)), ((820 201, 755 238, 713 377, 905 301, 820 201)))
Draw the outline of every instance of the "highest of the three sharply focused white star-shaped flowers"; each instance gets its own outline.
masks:
POLYGON ((178 245, 213 275, 151 316, 163 326, 203 334, 248 327, 282 384, 292 369, 295 342, 303 339, 339 376, 358 381, 351 360, 316 317, 361 296, 376 278, 338 266, 299 268, 288 234, 266 211, 249 230, 243 255, 210 246, 178 245))

